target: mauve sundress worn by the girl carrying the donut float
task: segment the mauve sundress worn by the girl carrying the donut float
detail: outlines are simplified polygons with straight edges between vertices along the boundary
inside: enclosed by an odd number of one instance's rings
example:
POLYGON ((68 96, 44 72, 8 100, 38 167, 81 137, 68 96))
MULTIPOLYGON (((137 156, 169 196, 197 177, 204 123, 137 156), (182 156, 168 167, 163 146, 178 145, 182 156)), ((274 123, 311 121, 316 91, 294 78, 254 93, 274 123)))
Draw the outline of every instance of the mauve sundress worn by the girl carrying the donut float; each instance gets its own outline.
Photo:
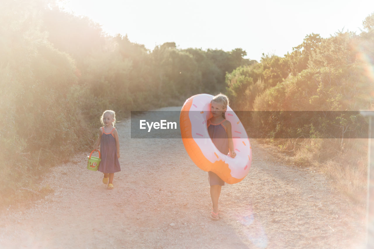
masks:
MULTIPOLYGON (((210 119, 208 119, 207 126, 209 136, 215 147, 217 147, 222 154, 227 155, 229 153, 229 141, 227 139, 226 127, 223 125, 223 122, 225 121, 226 119, 218 124, 214 124, 210 119)), ((208 172, 208 182, 211 186, 225 185, 225 182, 216 173, 211 171, 208 172)))

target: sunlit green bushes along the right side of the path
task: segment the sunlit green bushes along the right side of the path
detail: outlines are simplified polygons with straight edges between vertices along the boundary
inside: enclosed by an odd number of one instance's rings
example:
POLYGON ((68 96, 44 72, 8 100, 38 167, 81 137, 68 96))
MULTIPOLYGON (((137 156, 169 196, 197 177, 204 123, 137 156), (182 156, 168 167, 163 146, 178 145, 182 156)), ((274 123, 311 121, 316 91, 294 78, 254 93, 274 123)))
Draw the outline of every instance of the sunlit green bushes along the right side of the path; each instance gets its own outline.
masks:
MULTIPOLYGON (((294 156, 297 165, 321 166, 334 181, 339 175, 363 177, 365 169, 356 167, 366 160, 365 145, 363 140, 349 138, 366 136, 367 120, 342 111, 373 110, 373 18, 374 13, 365 19, 366 31, 359 35, 338 32, 323 39, 312 33, 283 58, 263 56, 260 63, 227 74, 227 92, 235 110, 274 111, 266 116, 247 115, 250 135, 271 138, 294 156), (330 117, 321 119, 310 112, 287 117, 284 111, 323 111, 330 117), (337 165, 343 167, 337 169, 337 165)), ((350 196, 362 191, 365 179, 361 180, 355 183, 359 186, 345 188, 350 196)))

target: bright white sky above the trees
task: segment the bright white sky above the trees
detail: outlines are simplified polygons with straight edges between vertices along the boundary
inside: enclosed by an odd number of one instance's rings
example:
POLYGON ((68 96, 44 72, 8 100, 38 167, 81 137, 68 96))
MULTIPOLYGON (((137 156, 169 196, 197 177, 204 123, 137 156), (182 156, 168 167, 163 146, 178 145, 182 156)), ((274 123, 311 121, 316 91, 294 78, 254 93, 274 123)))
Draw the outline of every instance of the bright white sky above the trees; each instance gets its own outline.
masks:
POLYGON ((128 34, 147 49, 165 42, 177 47, 237 47, 246 58, 284 56, 307 34, 360 34, 374 12, 373 0, 63 0, 65 9, 85 15, 111 35, 128 34))

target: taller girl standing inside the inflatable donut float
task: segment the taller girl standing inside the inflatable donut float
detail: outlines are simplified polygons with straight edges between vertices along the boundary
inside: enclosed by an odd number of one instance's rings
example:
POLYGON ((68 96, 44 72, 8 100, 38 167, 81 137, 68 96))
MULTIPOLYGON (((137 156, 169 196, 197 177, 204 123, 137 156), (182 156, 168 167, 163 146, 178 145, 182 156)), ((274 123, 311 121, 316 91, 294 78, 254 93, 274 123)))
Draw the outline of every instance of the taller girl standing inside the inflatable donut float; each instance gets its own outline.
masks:
MULTIPOLYGON (((231 157, 235 157, 234 144, 231 133, 231 123, 226 120, 225 112, 229 105, 229 99, 226 95, 220 93, 213 97, 211 101, 211 113, 213 117, 208 119, 208 133, 212 139, 213 144, 217 149, 223 153, 230 152, 231 157)), ((214 172, 208 172, 208 182, 210 185, 210 194, 212 199, 211 218, 218 219, 218 199, 220 198, 221 188, 225 182, 214 172)))

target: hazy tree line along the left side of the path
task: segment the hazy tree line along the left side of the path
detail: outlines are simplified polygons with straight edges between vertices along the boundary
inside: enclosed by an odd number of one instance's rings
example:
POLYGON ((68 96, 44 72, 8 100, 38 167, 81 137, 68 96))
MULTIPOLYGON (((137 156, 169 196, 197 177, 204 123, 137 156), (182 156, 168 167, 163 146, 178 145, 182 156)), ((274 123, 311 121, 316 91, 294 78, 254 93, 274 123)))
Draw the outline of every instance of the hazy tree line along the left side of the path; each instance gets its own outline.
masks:
POLYGON ((7 1, 0 9, 0 202, 39 190, 50 166, 92 147, 99 116, 177 103, 226 87, 226 72, 255 61, 240 48, 148 50, 109 36, 53 0, 7 1), (12 182, 12 184, 9 184, 12 182))

